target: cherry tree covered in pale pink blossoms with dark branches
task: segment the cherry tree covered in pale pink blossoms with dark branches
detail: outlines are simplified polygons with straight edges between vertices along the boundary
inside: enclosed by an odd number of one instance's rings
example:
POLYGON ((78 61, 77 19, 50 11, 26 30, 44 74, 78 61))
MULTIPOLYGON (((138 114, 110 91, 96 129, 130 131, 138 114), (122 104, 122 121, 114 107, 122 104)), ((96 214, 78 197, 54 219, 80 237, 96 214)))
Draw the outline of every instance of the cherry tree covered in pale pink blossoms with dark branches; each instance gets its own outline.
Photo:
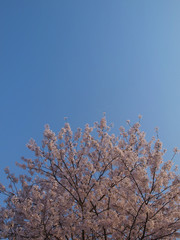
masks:
POLYGON ((42 146, 27 146, 35 157, 17 164, 25 174, 6 168, 10 184, 0 185, 0 239, 177 239, 173 158, 163 160, 158 136, 147 142, 139 122, 118 136, 105 117, 74 134, 68 123, 57 135, 47 125, 42 146))

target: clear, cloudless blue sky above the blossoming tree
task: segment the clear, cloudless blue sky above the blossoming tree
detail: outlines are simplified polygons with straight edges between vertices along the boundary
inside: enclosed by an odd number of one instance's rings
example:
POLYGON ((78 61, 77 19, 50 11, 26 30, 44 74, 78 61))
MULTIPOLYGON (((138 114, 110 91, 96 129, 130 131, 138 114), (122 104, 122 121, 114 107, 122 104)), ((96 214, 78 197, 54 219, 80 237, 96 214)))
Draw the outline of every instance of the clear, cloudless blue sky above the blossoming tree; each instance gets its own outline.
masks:
POLYGON ((171 155, 179 103, 179 0, 0 1, 1 182, 64 117, 75 129, 106 112, 118 129, 141 114, 171 155))

